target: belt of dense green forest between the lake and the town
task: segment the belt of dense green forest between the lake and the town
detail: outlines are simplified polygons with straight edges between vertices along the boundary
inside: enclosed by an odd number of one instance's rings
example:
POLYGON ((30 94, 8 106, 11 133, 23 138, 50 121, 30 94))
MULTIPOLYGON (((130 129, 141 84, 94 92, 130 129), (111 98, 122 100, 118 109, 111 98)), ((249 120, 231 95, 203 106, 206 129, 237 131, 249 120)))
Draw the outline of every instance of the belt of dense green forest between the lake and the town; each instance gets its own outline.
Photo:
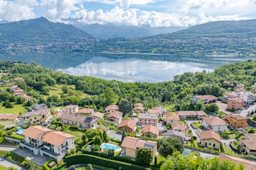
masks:
POLYGON ((204 94, 222 96, 225 92, 222 87, 223 81, 231 81, 234 84, 243 83, 247 90, 252 90, 252 84, 256 82, 256 62, 250 60, 226 64, 213 72, 185 72, 175 76, 173 81, 162 83, 123 83, 87 76, 71 76, 44 68, 36 63, 13 64, 0 61, 0 70, 8 73, 2 76, 2 80, 24 78, 25 81, 19 82, 18 86, 34 98, 34 103, 63 102, 65 105, 78 104, 99 111, 107 105, 118 104, 121 99, 127 99, 131 103, 141 102, 147 108, 173 105, 175 110, 194 110, 196 106, 191 104, 193 96, 204 94), (74 90, 90 95, 81 98, 79 93, 76 95, 73 90, 71 96, 61 95, 60 98, 49 96, 47 101, 42 99, 40 94, 49 95, 50 88, 56 84, 61 84, 62 91, 66 92, 69 88, 67 85, 75 85, 74 90))

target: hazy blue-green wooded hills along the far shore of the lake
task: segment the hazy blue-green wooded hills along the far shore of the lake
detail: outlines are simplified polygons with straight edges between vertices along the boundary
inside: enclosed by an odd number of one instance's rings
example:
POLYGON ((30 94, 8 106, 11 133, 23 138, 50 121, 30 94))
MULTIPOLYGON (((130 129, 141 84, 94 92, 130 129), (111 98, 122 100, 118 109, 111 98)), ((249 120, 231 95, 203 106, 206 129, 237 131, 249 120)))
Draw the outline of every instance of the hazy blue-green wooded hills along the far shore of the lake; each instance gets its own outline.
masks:
POLYGON ((256 54, 256 19, 216 21, 169 34, 98 40, 63 23, 37 18, 0 24, 0 54, 137 52, 256 54))

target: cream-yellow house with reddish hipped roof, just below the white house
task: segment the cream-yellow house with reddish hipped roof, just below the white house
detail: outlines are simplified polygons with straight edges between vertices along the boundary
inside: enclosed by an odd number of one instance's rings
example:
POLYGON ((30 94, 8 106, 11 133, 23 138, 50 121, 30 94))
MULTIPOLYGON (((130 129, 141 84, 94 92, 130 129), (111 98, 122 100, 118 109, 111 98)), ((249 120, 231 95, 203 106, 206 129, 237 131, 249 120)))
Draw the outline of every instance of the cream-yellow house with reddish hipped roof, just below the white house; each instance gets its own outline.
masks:
POLYGON ((212 147, 212 148, 220 149, 221 137, 218 133, 212 130, 201 131, 200 144, 203 147, 212 147))

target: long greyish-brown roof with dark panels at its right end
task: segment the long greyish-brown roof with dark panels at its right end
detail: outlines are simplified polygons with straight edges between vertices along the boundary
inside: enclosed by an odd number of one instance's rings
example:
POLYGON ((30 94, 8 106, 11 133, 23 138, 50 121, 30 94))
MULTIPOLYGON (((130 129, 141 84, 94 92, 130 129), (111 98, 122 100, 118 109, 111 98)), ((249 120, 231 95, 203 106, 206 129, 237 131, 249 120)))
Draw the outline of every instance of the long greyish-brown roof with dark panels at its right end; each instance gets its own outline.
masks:
POLYGON ((97 120, 90 116, 84 116, 81 114, 71 114, 71 113, 62 113, 62 115, 59 118, 65 119, 65 120, 71 120, 73 122, 84 123, 84 124, 91 124, 92 122, 97 120))

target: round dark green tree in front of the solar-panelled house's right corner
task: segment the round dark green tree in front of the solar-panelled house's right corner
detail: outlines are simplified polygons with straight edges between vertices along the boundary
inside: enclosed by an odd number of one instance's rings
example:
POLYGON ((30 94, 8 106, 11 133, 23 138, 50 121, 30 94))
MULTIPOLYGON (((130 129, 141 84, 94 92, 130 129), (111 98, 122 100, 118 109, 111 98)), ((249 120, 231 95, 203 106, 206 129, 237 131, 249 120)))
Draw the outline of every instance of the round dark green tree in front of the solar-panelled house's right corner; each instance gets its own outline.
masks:
POLYGON ((140 162, 144 162, 150 164, 153 159, 153 151, 151 148, 144 147, 139 148, 137 151, 137 160, 140 162))

